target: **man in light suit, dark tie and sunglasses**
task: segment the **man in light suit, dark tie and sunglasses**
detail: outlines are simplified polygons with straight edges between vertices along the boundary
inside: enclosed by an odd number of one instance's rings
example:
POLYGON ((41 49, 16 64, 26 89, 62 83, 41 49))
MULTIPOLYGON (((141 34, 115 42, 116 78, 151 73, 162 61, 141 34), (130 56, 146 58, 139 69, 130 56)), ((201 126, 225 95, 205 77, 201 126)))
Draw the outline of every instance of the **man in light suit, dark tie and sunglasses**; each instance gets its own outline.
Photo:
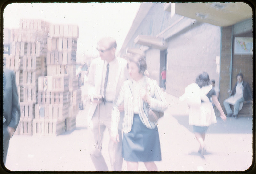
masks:
MULTIPOLYGON (((102 38, 97 50, 100 57, 92 60, 88 74, 88 95, 91 103, 88 111, 90 157, 97 171, 109 171, 101 153, 103 132, 111 133, 111 110, 121 85, 128 79, 127 61, 115 56, 116 40, 102 38)), ((122 122, 122 121, 121 121, 122 122)), ((122 169, 122 134, 119 125, 119 142, 109 139, 108 150, 113 171, 122 169)))

